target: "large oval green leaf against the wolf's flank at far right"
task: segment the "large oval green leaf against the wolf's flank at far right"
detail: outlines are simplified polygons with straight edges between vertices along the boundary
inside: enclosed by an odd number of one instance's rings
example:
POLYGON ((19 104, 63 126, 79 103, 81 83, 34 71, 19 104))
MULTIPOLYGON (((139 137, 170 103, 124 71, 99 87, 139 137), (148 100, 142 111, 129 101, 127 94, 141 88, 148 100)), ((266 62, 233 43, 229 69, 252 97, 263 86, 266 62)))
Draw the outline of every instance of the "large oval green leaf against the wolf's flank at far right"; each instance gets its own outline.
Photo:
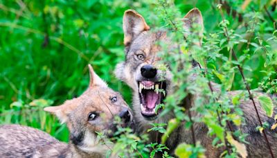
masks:
POLYGON ((271 117, 273 115, 274 109, 274 105, 272 103, 271 98, 269 98, 269 96, 262 95, 258 97, 258 100, 260 102, 260 106, 265 111, 267 116, 271 117))

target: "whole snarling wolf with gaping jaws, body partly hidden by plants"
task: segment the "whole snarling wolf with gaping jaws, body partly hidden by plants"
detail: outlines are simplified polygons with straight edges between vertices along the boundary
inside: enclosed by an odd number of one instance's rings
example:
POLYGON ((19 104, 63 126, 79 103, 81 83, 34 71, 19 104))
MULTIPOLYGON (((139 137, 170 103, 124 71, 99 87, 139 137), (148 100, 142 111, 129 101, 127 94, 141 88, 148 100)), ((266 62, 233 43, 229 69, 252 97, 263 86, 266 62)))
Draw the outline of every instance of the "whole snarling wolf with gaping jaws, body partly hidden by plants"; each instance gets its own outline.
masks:
MULTIPOLYGON (((193 25, 198 24, 201 29, 198 30, 200 36, 197 42, 193 42, 198 46, 201 46, 201 36, 204 29, 202 14, 197 8, 190 10, 184 17, 184 30, 186 34, 184 37, 191 35, 193 25), (199 41, 199 42, 198 42, 199 41)), ((168 123, 168 121, 174 118, 173 112, 169 112, 165 116, 159 117, 161 110, 155 112, 155 108, 166 98, 166 95, 172 94, 172 73, 170 70, 162 72, 155 67, 156 63, 162 61, 161 55, 158 55, 160 51, 163 51, 161 46, 157 46, 157 42, 169 42, 172 46, 175 43, 171 43, 172 40, 167 37, 165 31, 151 31, 150 26, 146 24, 145 19, 138 12, 134 10, 127 10, 123 16, 123 31, 124 31, 124 44, 125 44, 125 61, 119 63, 116 66, 115 74, 117 78, 123 80, 133 90, 133 108, 134 118, 136 120, 139 132, 147 132, 151 128, 150 123, 168 123), (162 75, 161 73, 166 73, 162 75), (161 80, 160 76, 163 76, 161 80), (155 89, 163 89, 166 93, 163 94, 155 89)), ((165 52, 165 51, 163 51, 165 52)), ((230 91, 229 96, 235 96, 240 91, 230 91)), ((187 107, 193 106, 195 103, 196 95, 187 96, 187 107)), ((260 107, 258 100, 255 98, 256 105, 258 106, 258 112, 260 113, 260 119, 262 122, 274 123, 274 119, 268 117, 260 107)), ((267 143, 256 130, 259 125, 256 117, 255 109, 250 100, 240 100, 240 107, 244 112, 245 123, 240 130, 248 134, 246 141, 247 152, 249 157, 267 157, 269 150, 267 143)), ((188 110, 186 110, 188 112, 188 110)), ((275 111, 276 113, 276 111, 275 111)), ((193 117, 198 117, 196 112, 192 112, 193 117)), ((233 124, 232 124, 233 125, 233 124)), ((207 157, 220 157, 222 150, 220 148, 214 148, 212 146, 213 139, 207 136, 208 128, 204 123, 195 123, 195 136, 197 141, 202 143, 202 146, 206 148, 207 157)), ((233 129, 238 129, 233 125, 233 129)), ((269 137, 269 143, 274 154, 277 155, 277 139, 274 136, 274 130, 267 130, 269 137)), ((170 134, 166 146, 170 148, 172 153, 179 143, 193 143, 192 133, 190 130, 186 130, 184 125, 179 126, 175 132, 170 134)), ((150 141, 159 141, 161 135, 157 132, 150 132, 150 141)))

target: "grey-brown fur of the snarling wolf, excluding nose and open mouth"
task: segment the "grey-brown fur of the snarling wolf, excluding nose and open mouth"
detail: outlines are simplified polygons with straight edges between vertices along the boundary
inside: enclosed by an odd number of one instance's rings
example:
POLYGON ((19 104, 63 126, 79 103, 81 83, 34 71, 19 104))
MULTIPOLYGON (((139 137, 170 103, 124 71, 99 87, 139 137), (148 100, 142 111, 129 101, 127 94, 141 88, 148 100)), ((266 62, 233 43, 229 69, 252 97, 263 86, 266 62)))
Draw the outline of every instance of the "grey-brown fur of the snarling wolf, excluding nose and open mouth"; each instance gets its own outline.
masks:
MULTIPOLYGON (((186 21, 184 21, 184 28, 188 29, 186 36, 190 33, 190 27, 192 26, 193 18, 196 19, 196 22, 203 26, 203 20, 201 12, 194 8, 193 10, 190 10, 188 14, 185 16, 186 21)), ((154 65, 157 61, 161 60, 157 58, 157 52, 159 51, 159 47, 155 45, 155 43, 159 40, 170 42, 168 37, 166 37, 166 33, 161 34, 161 32, 158 33, 152 33, 149 28, 145 29, 145 26, 148 26, 145 21, 144 25, 143 23, 136 22, 136 19, 141 21, 143 17, 139 15, 134 10, 127 10, 125 12, 125 15, 123 17, 123 30, 126 35, 128 32, 132 32, 130 30, 127 30, 127 28, 131 29, 130 26, 133 26, 134 28, 141 28, 140 33, 136 33, 132 35, 132 37, 125 38, 125 53, 126 58, 125 61, 122 63, 119 63, 114 71, 117 78, 120 80, 123 80, 124 82, 129 85, 133 89, 133 109, 134 109, 134 118, 136 119, 136 123, 139 131, 141 133, 146 132, 148 128, 150 128, 150 123, 168 123, 168 121, 172 118, 174 118, 174 114, 172 112, 169 112, 166 116, 158 117, 158 119, 155 119, 154 121, 148 121, 143 118, 141 115, 141 108, 140 108, 140 99, 139 99, 139 86, 137 81, 143 80, 141 76, 140 69, 145 64, 152 64, 154 65), (132 13, 130 13, 132 12, 132 13), (132 21, 128 21, 128 15, 132 14, 132 21), (135 16, 137 16, 135 18, 135 16), (125 26, 127 25, 127 26, 125 26), (141 26, 136 26, 141 25, 141 26), (144 28, 143 28, 144 27, 144 28), (141 61, 136 58, 136 55, 142 53, 145 55, 145 60, 141 61)), ((149 27, 149 26, 148 26, 149 27)), ((202 32, 202 31, 201 31, 202 32)), ((201 33, 199 33, 201 36, 201 33)), ((129 36, 129 34, 128 34, 129 36)), ((125 36, 126 37, 126 36, 125 36)), ((201 37, 200 37, 201 40, 201 37)), ((198 43, 195 43, 197 45, 201 45, 201 41, 198 43)), ((175 44, 171 44, 174 46, 175 44)), ((158 74, 161 72, 158 72, 158 74)), ((159 76, 159 75, 158 75, 159 76)), ((170 71, 166 71, 166 80, 167 83, 167 94, 172 94, 173 91, 173 85, 170 82, 172 78, 172 75, 170 71)), ((159 78, 154 78, 152 81, 156 82, 159 80, 159 78)), ((219 89, 215 89, 215 91, 219 91, 219 89)), ((236 94, 240 93, 240 91, 230 91, 229 96, 232 98, 232 96, 235 96, 236 94)), ((255 93, 255 95, 260 95, 258 93, 255 93)), ((193 106, 195 103, 195 98, 197 96, 190 96, 188 98, 190 100, 190 105, 186 106, 193 106)), ((268 117, 265 112, 261 109, 260 104, 258 103, 258 100, 255 98, 256 105, 258 106, 258 111, 260 113, 262 122, 269 121, 269 124, 272 125, 274 123, 274 119, 268 117)), ((256 127, 259 125, 258 119, 256 116, 256 112, 254 110, 253 104, 250 100, 240 100, 240 107, 242 111, 244 112, 244 118, 246 121, 246 125, 242 127, 242 132, 249 134, 249 136, 246 138, 246 140, 249 142, 249 144, 246 144, 247 146, 247 152, 248 157, 270 157, 269 150, 267 148, 267 144, 265 142, 264 137, 260 132, 256 131, 256 127)), ((275 111, 276 113, 276 111, 275 111)), ((199 114, 196 114, 193 112, 193 117, 199 117, 199 114)), ((195 123, 195 135, 197 141, 200 141, 202 143, 202 146, 206 148, 206 157, 219 157, 220 153, 222 152, 222 148, 214 148, 212 146, 213 139, 211 137, 207 136, 208 128, 204 123, 195 123)), ((233 128, 238 128, 233 125, 233 128)), ((277 155, 277 138, 276 138, 276 130, 266 130, 267 135, 269 137, 269 141, 271 143, 271 148, 274 151, 274 155, 277 155)), ((157 141, 159 140, 159 137, 161 137, 160 134, 157 132, 150 132, 150 141, 157 141), (158 138, 158 139, 157 139, 158 138)), ((184 125, 181 125, 175 132, 170 134, 170 137, 168 138, 168 141, 166 142, 166 146, 170 148, 170 153, 174 152, 175 148, 179 143, 193 143, 192 134, 190 130, 186 130, 184 128, 184 125)))

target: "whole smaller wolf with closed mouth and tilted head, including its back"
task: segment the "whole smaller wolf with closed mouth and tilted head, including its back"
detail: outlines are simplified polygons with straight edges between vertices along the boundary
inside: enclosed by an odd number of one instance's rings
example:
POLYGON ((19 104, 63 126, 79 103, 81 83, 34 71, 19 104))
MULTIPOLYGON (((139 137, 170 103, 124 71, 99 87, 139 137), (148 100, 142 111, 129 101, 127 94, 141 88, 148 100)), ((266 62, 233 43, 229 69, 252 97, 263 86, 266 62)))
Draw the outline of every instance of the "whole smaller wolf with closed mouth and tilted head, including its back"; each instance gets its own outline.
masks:
POLYGON ((132 128, 133 116, 120 94, 109 89, 90 65, 89 72, 89 88, 81 96, 60 106, 44 108, 66 123, 69 144, 35 128, 2 125, 0 157, 105 157, 111 145, 101 143, 96 132, 113 137, 118 127, 115 117, 121 118, 121 127, 132 128))

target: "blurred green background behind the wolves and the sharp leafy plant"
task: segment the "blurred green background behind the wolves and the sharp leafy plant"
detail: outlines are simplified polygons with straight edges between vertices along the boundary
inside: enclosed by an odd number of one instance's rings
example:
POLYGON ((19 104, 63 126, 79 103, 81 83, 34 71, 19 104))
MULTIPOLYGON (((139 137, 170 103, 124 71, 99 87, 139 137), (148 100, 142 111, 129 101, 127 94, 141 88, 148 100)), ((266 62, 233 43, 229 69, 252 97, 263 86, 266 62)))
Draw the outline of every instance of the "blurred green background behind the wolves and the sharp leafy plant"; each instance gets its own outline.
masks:
MULTIPOLYGON (((274 23, 264 6, 276 20, 272 2, 252 1, 242 10, 244 1, 228 1, 230 8, 225 8, 224 16, 230 21, 230 28, 243 36, 247 33, 242 27, 248 22, 247 10, 261 12, 265 19, 256 31, 267 40, 274 23), (240 16, 245 19, 240 21, 240 16)), ((184 15, 193 7, 199 8, 207 36, 220 31, 218 24, 222 19, 216 1, 178 0, 175 4, 184 15)), ((92 64, 96 73, 131 104, 130 89, 113 74, 116 63, 125 58, 122 18, 129 8, 141 13, 150 26, 160 27, 157 21, 161 17, 155 14, 157 1, 0 0, 0 124, 29 125, 67 141, 65 125, 42 109, 80 96, 89 82, 87 64, 92 64)), ((276 42, 267 44, 276 52, 276 42)), ((251 68, 245 73, 252 78, 253 89, 264 77, 260 71, 272 69, 265 69, 262 51, 254 51, 251 48, 244 62, 251 68)), ((217 62, 215 67, 220 64, 223 62, 217 62)), ((232 89, 241 89, 242 85, 236 74, 232 89)))

